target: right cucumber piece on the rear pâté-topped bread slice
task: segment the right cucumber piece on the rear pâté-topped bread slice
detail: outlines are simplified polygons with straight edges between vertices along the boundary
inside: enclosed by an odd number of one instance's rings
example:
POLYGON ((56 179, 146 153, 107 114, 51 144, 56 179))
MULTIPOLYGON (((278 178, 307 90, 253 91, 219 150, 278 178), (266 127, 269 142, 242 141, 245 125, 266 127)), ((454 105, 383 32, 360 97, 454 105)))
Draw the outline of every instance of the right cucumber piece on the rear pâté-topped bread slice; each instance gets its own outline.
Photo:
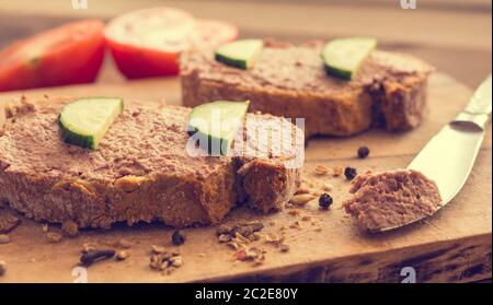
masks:
POLYGON ((333 77, 351 80, 376 47, 376 39, 365 37, 329 42, 322 50, 325 70, 333 77))

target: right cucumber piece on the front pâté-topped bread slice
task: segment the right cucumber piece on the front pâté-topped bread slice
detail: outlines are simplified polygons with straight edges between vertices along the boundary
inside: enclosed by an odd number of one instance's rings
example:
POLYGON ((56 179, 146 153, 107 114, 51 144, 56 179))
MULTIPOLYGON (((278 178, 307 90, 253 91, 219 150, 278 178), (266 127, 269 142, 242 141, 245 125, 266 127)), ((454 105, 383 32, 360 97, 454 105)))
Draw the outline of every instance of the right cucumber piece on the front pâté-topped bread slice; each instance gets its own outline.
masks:
POLYGON ((210 155, 226 155, 241 127, 249 101, 217 101, 192 109, 188 131, 210 155), (195 134, 197 133, 197 134, 195 134))

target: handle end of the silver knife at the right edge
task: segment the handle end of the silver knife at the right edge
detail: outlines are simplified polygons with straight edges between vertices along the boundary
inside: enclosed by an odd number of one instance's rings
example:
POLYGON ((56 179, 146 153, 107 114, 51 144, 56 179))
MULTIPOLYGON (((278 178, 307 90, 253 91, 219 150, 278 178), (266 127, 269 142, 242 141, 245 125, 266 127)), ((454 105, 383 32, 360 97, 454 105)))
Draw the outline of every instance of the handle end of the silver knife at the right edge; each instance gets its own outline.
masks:
POLYGON ((456 117, 452 124, 473 124, 475 127, 484 130, 492 110, 491 90, 490 74, 474 92, 466 109, 456 117))

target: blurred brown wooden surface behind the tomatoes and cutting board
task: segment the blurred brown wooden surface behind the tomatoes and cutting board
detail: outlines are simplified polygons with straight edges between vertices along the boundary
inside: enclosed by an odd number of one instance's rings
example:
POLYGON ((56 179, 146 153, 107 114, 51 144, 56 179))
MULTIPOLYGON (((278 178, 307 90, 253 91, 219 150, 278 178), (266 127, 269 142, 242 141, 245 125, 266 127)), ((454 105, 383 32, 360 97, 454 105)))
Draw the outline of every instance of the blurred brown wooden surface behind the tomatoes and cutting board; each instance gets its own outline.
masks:
MULTIPOLYGON (((111 19, 139 8, 182 8, 198 17, 232 22, 242 36, 288 40, 371 35, 383 48, 422 57, 459 81, 474 86, 491 71, 490 0, 416 0, 402 10, 399 0, 0 0, 0 47, 13 39, 88 16, 111 19)), ((100 81, 122 82, 108 61, 100 81)))

